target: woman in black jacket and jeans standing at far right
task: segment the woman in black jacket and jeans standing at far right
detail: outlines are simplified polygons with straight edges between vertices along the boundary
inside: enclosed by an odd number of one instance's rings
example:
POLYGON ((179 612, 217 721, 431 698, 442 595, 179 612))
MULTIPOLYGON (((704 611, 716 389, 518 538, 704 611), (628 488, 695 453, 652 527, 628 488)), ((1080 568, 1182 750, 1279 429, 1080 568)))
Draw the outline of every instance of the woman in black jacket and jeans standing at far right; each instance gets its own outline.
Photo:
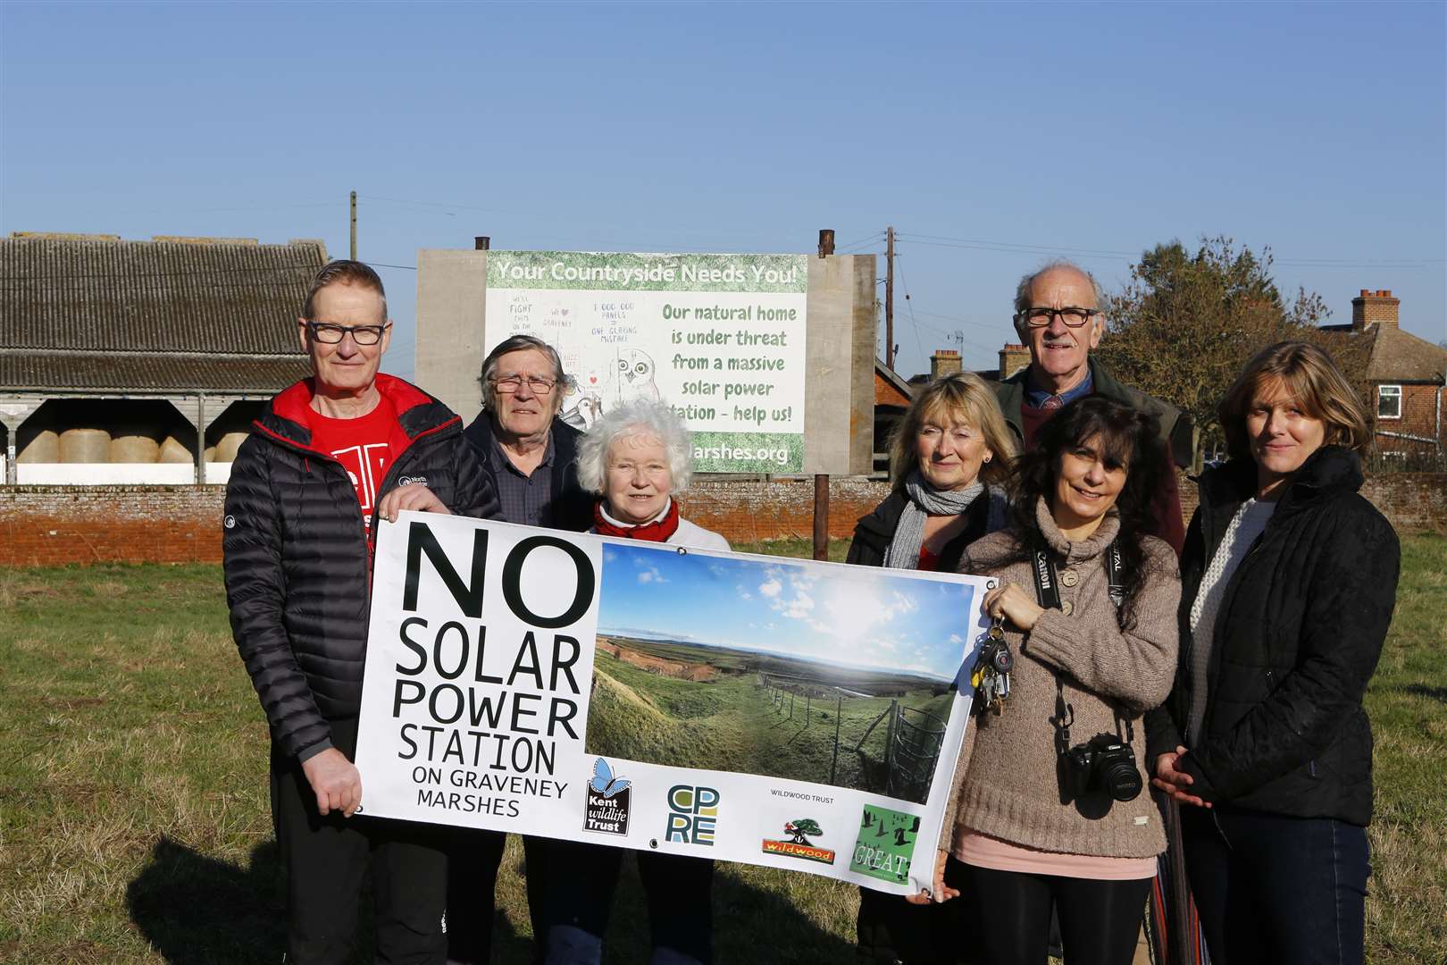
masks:
POLYGON ((1147 723, 1181 802, 1217 965, 1360 962, 1372 816, 1362 696, 1396 598, 1391 524, 1357 495, 1367 414, 1301 341, 1220 407, 1233 460, 1201 477, 1181 557, 1182 658, 1147 723))

